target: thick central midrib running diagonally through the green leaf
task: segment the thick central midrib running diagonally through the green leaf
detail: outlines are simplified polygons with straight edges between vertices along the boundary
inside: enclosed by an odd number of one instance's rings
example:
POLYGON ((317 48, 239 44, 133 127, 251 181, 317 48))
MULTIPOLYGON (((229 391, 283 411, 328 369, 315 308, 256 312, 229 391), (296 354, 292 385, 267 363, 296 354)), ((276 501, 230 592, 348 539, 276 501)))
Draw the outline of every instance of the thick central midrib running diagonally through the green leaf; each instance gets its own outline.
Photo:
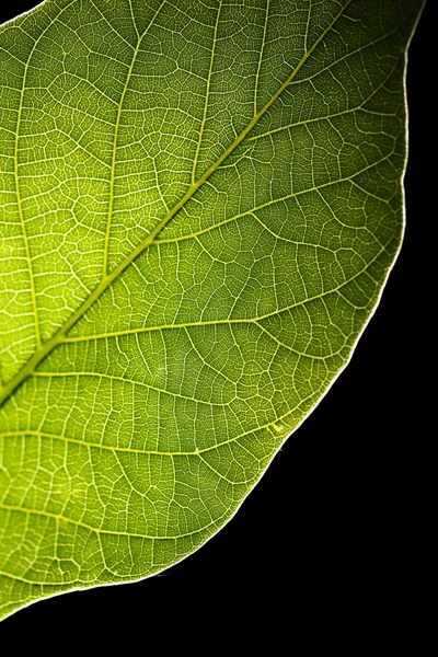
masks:
POLYGON ((215 173, 215 171, 223 163, 223 161, 237 149, 237 147, 245 139, 247 134, 253 129, 262 116, 269 110, 275 103, 279 95, 287 89, 290 82, 296 78, 302 66, 309 59, 313 50, 318 47, 325 35, 332 30, 333 25, 342 16, 348 4, 353 0, 347 0, 342 10, 336 14, 330 25, 322 32, 320 37, 314 42, 313 46, 304 53, 303 57, 290 73, 286 82, 277 90, 277 92, 270 97, 266 105, 254 115, 252 120, 247 124, 246 128, 234 139, 234 141, 228 147, 227 150, 211 164, 211 166, 197 180, 195 181, 178 200, 178 203, 163 217, 163 219, 155 226, 155 228, 149 233, 147 238, 115 268, 111 274, 104 275, 99 286, 90 295, 90 297, 73 312, 67 322, 59 328, 59 331, 46 343, 42 345, 39 349, 35 351, 32 358, 23 366, 23 368, 15 374, 13 379, 2 389, 0 393, 0 406, 11 396, 12 393, 35 371, 36 367, 48 356, 57 346, 62 344, 66 334, 72 328, 72 326, 85 314, 85 312, 93 306, 93 303, 110 288, 114 280, 129 267, 129 265, 141 254, 148 246, 150 246, 157 235, 163 230, 163 228, 173 219, 173 217, 184 207, 184 205, 192 198, 192 196, 199 189, 199 187, 215 173))

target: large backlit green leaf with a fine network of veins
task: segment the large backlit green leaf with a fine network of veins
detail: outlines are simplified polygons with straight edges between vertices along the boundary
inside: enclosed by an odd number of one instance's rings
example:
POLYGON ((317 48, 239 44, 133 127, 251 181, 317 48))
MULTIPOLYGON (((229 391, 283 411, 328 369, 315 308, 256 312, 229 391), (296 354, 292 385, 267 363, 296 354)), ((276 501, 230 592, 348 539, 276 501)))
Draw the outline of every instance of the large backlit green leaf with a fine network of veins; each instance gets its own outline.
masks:
POLYGON ((0 616, 205 543, 400 247, 413 0, 46 0, 1 27, 0 616))

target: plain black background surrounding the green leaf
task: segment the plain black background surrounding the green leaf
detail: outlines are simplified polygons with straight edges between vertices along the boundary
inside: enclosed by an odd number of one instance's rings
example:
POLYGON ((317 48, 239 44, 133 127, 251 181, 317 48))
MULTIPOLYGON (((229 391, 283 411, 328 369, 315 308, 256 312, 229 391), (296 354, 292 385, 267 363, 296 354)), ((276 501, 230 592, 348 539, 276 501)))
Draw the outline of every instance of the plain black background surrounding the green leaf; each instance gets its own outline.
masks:
MULTIPOLYGON (((35 4, 2 7, 0 20, 35 4)), ((137 584, 32 604, 1 624, 2 637, 34 631, 68 637, 79 629, 111 633, 131 624, 148 634, 172 633, 175 622, 187 631, 211 614, 215 642, 233 620, 254 633, 270 611, 286 619, 292 638, 298 614, 315 619, 315 632, 327 614, 341 627, 359 616, 383 626, 394 606, 410 604, 419 556, 415 538, 422 538, 423 388, 426 367, 433 368, 431 304, 419 298, 431 260, 431 241, 423 234, 433 186, 427 146, 434 124, 426 106, 430 22, 429 2, 410 50, 405 241, 350 365, 240 512, 198 552, 137 584), (250 621, 242 620, 243 609, 250 621)))

